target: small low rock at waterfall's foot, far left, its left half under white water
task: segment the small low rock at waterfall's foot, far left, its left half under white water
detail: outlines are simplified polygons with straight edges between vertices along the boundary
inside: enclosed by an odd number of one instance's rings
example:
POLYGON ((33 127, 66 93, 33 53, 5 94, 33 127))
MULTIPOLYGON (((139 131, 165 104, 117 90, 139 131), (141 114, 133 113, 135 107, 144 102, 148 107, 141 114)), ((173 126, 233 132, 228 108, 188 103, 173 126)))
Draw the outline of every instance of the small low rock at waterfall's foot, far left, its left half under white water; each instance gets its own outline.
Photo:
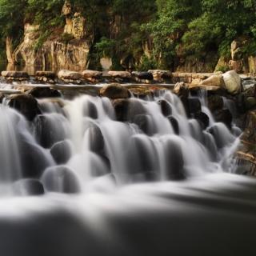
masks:
POLYGON ((14 194, 18 196, 35 196, 45 193, 43 185, 37 179, 27 178, 15 182, 13 185, 14 194))

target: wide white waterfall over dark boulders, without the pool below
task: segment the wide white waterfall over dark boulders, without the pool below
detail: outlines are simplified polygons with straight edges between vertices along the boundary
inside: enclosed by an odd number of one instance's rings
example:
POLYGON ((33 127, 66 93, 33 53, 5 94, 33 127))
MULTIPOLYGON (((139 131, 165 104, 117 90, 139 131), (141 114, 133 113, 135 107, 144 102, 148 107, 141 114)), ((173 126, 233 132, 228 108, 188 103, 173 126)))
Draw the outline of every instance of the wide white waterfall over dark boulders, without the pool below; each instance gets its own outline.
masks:
POLYGON ((232 172, 239 140, 200 100, 207 127, 165 90, 114 104, 88 95, 42 99, 32 123, 1 105, 1 181, 34 178, 46 191, 71 193, 102 177, 122 186, 232 172))

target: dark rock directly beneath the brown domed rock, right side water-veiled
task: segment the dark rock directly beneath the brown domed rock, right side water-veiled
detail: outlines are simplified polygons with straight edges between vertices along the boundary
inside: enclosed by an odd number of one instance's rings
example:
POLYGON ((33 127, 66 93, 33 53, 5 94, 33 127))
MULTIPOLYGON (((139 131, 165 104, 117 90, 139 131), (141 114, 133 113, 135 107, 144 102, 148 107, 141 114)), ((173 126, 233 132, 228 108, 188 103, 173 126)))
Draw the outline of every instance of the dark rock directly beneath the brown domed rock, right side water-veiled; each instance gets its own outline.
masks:
POLYGON ((132 121, 137 114, 146 114, 141 102, 132 99, 117 99, 113 101, 114 110, 119 122, 132 121))

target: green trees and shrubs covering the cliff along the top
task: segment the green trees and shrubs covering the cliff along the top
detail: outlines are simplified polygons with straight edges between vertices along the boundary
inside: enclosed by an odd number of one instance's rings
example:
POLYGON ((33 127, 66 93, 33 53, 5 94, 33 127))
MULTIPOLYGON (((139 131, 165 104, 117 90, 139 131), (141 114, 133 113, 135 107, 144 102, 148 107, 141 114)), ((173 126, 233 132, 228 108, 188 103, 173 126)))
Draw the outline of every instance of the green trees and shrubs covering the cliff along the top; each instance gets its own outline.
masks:
MULTIPOLYGON (((6 42, 14 49, 22 41, 25 23, 39 25, 39 49, 64 27, 64 2, 0 0, 1 55, 6 42)), ((209 52, 229 58, 237 38, 246 42, 241 54, 256 55, 254 0, 73 0, 70 5, 85 17, 94 67, 100 58, 111 57, 115 69, 175 69, 181 60, 203 61, 209 52)))

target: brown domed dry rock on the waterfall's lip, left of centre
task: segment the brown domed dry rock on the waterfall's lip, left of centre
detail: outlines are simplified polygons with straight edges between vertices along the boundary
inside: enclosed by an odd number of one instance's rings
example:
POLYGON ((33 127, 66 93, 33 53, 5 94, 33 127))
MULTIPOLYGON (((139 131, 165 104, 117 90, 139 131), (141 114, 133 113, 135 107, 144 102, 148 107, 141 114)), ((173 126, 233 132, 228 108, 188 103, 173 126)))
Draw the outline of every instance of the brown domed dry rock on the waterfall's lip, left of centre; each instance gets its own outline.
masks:
POLYGON ((109 86, 104 86, 100 90, 100 95, 102 97, 117 99, 117 98, 130 98, 129 90, 121 86, 118 83, 110 84, 109 86))

